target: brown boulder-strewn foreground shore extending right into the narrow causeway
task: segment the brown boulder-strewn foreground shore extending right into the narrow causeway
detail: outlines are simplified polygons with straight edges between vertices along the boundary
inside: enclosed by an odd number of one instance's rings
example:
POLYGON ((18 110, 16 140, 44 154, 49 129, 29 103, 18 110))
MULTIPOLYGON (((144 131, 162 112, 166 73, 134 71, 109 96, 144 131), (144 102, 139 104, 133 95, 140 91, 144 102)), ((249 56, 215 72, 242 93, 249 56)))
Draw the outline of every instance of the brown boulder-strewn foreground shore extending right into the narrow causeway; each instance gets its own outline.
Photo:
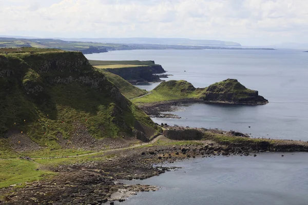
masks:
POLYGON ((308 142, 265 139, 249 141, 247 136, 234 131, 165 126, 164 134, 169 138, 176 134, 179 140, 171 140, 162 136, 161 139, 164 138, 167 141, 146 144, 139 148, 101 153, 85 162, 44 167, 44 169, 56 172, 57 175, 51 179, 27 183, 24 188, 12 186, 1 189, 0 204, 88 205, 106 202, 106 204, 112 204, 114 200, 123 201, 138 192, 159 189, 150 185, 128 186, 119 183, 119 179, 145 179, 166 171, 177 170, 179 168, 170 165, 178 160, 220 155, 257 157, 260 152, 272 151, 308 151, 308 142), (171 131, 174 133, 172 134, 171 131), (190 131, 193 131, 196 136, 201 133, 202 136, 199 137, 201 140, 182 141, 185 140, 185 136, 194 139, 190 131), (182 134, 183 132, 185 135, 182 134), (229 137, 229 141, 219 141, 215 138, 217 135, 229 137), (180 138, 180 136, 184 137, 180 138), (161 166, 166 163, 169 163, 169 166, 161 166))

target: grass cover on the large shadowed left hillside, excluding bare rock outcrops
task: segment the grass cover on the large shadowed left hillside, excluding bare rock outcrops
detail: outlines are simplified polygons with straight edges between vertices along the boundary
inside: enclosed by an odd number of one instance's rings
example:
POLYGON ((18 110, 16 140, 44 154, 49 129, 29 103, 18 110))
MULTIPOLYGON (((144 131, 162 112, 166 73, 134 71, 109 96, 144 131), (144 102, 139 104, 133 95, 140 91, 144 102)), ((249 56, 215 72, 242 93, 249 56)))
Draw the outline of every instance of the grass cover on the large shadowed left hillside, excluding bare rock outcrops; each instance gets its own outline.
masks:
MULTIPOLYGON (((28 52, 29 50, 27 50, 28 52)), ((80 52, 63 52, 55 50, 32 49, 36 53, 10 53, 5 55, 8 63, 0 64, 1 69, 14 72, 14 77, 0 77, 0 157, 16 156, 8 147, 8 141, 3 138, 8 130, 23 131, 38 145, 51 149, 61 149, 57 143, 56 134, 61 132, 65 139, 75 129, 74 123, 86 126, 92 136, 96 138, 117 137, 119 132, 131 133, 134 121, 139 120, 150 127, 155 127, 150 118, 137 109, 122 96, 128 107, 111 96, 114 87, 108 80, 100 83, 100 89, 83 86, 72 82, 67 85, 53 84, 47 81, 55 76, 61 77, 90 77, 92 79, 105 76, 87 64, 87 60, 80 52), (82 67, 64 71, 53 70, 40 72, 40 66, 50 60, 57 59, 59 64, 76 65, 84 60, 82 67), (70 62, 70 63, 69 63, 70 62), (44 89, 38 95, 26 94, 27 85, 42 86, 44 89), (122 112, 111 116, 114 109, 122 112), (123 127, 123 125, 125 125, 123 127), (103 126, 104 132, 99 128, 103 126)), ((48 63, 47 63, 48 65, 48 63)), ((119 91, 117 91, 119 92, 119 91)))

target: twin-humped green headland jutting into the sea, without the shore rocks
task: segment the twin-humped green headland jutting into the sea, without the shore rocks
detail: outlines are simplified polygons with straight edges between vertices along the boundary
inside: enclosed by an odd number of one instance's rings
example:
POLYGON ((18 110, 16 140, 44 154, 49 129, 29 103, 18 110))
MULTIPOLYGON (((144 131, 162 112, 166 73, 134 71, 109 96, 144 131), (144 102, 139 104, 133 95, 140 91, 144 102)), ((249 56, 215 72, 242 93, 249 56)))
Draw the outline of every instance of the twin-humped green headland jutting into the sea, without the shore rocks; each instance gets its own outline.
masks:
POLYGON ((226 79, 207 88, 195 88, 185 80, 169 80, 152 90, 152 94, 134 99, 135 103, 153 103, 177 99, 201 99, 204 103, 264 105, 268 101, 258 91, 250 90, 236 79, 226 79))

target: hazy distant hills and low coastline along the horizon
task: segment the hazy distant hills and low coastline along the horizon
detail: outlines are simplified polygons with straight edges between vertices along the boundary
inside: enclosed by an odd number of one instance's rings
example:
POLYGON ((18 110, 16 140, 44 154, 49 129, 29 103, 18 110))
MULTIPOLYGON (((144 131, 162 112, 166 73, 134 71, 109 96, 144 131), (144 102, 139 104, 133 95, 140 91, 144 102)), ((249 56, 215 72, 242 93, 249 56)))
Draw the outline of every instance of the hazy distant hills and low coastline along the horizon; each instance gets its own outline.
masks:
MULTIPOLYGON (((20 36, 22 37, 22 36, 20 36)), ((0 36, 0 48, 54 48, 81 51, 83 54, 114 50, 274 50, 271 48, 243 48, 239 43, 220 40, 192 40, 188 38, 14 38, 0 36), (123 42, 123 43, 120 43, 123 42)))

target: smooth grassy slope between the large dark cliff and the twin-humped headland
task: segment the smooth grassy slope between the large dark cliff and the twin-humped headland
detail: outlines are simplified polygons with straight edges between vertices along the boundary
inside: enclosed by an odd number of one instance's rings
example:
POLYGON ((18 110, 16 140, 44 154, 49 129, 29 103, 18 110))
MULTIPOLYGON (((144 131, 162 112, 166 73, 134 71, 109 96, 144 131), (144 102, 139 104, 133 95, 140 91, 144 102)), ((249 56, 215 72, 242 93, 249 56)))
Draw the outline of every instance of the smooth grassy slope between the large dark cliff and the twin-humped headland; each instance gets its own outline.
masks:
POLYGON ((127 97, 128 99, 139 97, 147 93, 146 90, 142 90, 140 88, 137 88, 136 86, 131 85, 119 75, 115 75, 102 69, 98 70, 99 72, 103 73, 108 78, 108 80, 111 81, 111 83, 117 86, 122 92, 122 94, 125 95, 125 97, 127 97))

